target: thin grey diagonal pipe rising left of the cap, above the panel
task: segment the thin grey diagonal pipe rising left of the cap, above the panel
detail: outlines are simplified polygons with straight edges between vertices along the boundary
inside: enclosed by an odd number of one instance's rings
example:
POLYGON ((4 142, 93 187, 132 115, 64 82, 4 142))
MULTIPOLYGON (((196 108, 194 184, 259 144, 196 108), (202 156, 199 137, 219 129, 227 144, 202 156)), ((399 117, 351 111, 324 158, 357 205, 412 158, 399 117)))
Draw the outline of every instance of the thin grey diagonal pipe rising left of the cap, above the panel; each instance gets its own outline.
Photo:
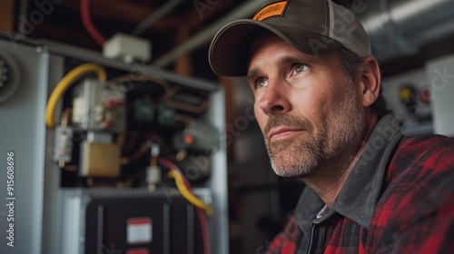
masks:
POLYGON ((216 23, 210 25, 208 28, 206 28, 199 34, 195 34, 194 36, 192 36, 192 38, 189 39, 186 43, 180 45, 173 51, 164 54, 160 58, 156 59, 153 62, 153 65, 163 67, 168 64, 172 64, 173 61, 180 55, 186 54, 192 51, 193 49, 201 46, 202 44, 209 42, 214 36, 214 34, 216 34, 216 32, 218 32, 218 30, 221 29, 221 27, 224 24, 227 24, 235 19, 245 18, 250 15, 253 15, 255 12, 257 12, 257 10, 260 9, 260 7, 262 7, 262 5, 264 5, 264 3, 265 3, 264 0, 250 0, 247 1, 246 3, 243 3, 242 5, 239 5, 232 12, 223 16, 216 23))

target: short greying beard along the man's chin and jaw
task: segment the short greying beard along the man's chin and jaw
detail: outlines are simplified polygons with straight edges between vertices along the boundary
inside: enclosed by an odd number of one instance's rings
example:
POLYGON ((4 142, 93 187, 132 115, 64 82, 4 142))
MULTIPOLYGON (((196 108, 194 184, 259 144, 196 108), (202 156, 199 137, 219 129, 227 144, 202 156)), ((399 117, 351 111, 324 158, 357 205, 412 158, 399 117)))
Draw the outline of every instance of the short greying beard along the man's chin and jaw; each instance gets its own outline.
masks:
MULTIPOLYGON (((304 178, 317 173, 343 151, 360 142, 365 123, 355 96, 354 90, 349 88, 338 112, 321 123, 318 135, 314 134, 313 128, 308 128, 304 141, 291 139, 266 143, 273 171, 281 177, 304 178)), ((300 121, 305 126, 311 125, 307 120, 300 121)))

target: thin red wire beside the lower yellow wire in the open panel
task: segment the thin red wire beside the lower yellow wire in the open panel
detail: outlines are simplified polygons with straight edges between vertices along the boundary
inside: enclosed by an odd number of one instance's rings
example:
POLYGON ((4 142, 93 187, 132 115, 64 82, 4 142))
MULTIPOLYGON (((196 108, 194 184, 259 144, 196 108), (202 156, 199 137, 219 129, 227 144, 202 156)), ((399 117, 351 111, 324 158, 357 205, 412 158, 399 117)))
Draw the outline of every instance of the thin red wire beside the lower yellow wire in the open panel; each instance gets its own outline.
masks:
MULTIPOLYGON (((163 163, 164 166, 166 166, 169 170, 176 172, 179 174, 184 182, 184 185, 186 185, 186 188, 192 192, 191 185, 189 184, 189 181, 184 177, 182 171, 172 162, 169 161, 165 158, 159 158, 159 161, 163 163)), ((203 240, 203 253, 205 254, 210 254, 211 253, 211 245, 210 245, 210 233, 208 229, 208 220, 206 218, 205 212, 201 208, 196 208, 197 210, 197 215, 200 220, 201 228, 202 228, 202 240, 203 240)))

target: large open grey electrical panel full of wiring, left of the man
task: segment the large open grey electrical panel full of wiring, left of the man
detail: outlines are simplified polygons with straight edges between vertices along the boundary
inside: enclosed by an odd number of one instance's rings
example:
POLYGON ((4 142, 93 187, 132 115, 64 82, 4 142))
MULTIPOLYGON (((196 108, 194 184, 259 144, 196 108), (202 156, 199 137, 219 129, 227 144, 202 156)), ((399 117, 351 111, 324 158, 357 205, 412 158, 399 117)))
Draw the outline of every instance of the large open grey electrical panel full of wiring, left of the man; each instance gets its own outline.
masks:
POLYGON ((0 252, 228 253, 223 116, 217 83, 0 34, 0 252))

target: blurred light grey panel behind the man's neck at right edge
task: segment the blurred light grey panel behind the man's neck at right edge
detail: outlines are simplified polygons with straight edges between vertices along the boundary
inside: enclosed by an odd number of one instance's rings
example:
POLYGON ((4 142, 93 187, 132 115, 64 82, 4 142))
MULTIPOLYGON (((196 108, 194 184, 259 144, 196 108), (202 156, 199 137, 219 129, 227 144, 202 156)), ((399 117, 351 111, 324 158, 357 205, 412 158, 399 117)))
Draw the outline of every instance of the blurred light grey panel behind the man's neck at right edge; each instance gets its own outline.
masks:
POLYGON ((454 56, 447 55, 382 81, 387 105, 405 135, 454 135, 453 80, 454 56))

